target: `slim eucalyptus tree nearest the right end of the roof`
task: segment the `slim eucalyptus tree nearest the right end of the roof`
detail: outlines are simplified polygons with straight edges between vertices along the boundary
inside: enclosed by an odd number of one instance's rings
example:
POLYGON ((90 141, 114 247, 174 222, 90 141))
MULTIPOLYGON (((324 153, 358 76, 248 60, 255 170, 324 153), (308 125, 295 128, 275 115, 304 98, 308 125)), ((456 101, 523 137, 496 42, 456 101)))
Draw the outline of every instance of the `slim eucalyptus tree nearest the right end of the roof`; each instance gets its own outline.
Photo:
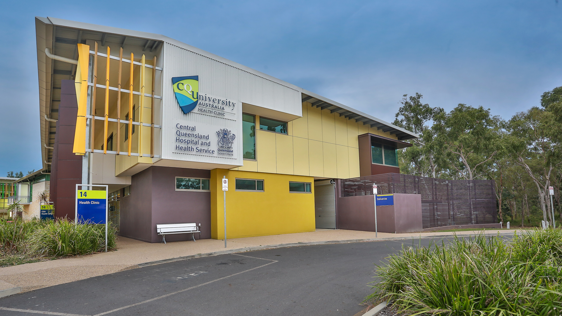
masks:
POLYGON ((441 107, 430 107, 422 103, 422 94, 416 92, 415 96, 402 96, 402 106, 395 115, 394 125, 419 134, 420 138, 411 139, 414 146, 406 148, 402 157, 407 164, 406 168, 422 177, 437 177, 438 153, 434 144, 434 131, 428 123, 432 123, 435 116, 443 112, 441 107))

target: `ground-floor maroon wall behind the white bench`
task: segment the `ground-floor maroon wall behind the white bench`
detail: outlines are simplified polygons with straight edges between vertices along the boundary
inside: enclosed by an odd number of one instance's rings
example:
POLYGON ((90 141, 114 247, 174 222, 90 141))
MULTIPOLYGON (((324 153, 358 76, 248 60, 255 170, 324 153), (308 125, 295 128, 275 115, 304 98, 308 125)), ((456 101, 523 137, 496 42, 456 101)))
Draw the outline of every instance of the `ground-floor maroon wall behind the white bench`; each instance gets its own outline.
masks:
MULTIPOLYGON (((210 178, 211 171, 151 166, 133 175, 131 194, 121 197, 121 236, 161 242, 156 224, 201 223, 201 238, 211 238, 211 192, 175 191, 175 177, 210 178)), ((191 234, 166 236, 166 241, 190 239, 191 234)))

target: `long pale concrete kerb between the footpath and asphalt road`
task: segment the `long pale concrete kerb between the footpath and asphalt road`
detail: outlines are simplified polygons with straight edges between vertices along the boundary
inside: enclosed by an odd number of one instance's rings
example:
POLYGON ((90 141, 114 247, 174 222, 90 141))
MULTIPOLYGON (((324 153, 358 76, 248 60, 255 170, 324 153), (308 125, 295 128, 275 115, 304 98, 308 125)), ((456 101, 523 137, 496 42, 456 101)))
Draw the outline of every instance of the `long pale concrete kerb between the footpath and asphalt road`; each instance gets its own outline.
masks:
MULTIPOLYGON (((485 234, 485 233, 484 233, 485 234)), ((508 236, 513 235, 513 232, 509 233, 495 233, 495 234, 488 234, 490 236, 508 236)), ((253 251, 253 250, 263 250, 263 249, 275 249, 275 248, 287 248, 287 247, 296 247, 296 246, 310 246, 310 245, 325 245, 330 243, 351 243, 351 242, 366 242, 366 241, 384 241, 384 240, 414 240, 414 239, 424 239, 424 238, 448 238, 454 236, 474 236, 474 234, 465 234, 465 235, 456 235, 456 234, 446 234, 446 235, 438 235, 438 236, 405 236, 405 237, 388 237, 388 238, 368 238, 368 239, 351 239, 351 240, 332 240, 332 241, 313 241, 313 242, 296 242, 296 243, 282 243, 279 245, 265 245, 265 246, 255 246, 255 247, 244 247, 238 249, 228 249, 222 251, 213 251, 213 252, 206 252, 204 254, 195 254, 189 256, 182 256, 170 259, 162 259, 162 260, 155 260, 155 261, 148 261, 144 263, 139 263, 138 267, 147 267, 148 265, 155 265, 155 264, 162 264, 168 263, 173 261, 180 261, 186 259, 193 259, 193 258, 201 258, 201 257, 208 257, 208 256, 217 256, 217 255, 224 255, 224 254, 234 254, 236 252, 246 252, 246 251, 253 251)))

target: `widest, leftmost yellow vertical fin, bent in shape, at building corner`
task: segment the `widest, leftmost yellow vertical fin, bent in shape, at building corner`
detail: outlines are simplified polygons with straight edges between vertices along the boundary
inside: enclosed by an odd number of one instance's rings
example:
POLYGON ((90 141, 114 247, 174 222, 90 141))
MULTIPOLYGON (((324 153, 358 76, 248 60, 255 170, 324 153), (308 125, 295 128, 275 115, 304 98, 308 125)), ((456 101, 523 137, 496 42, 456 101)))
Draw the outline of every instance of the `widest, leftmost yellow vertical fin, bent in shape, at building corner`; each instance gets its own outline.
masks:
POLYGON ((76 101, 78 101, 78 115, 76 115, 76 130, 74 132, 74 146, 72 152, 76 155, 86 153, 86 102, 88 97, 88 62, 90 47, 78 44, 78 67, 74 87, 76 89, 76 101))

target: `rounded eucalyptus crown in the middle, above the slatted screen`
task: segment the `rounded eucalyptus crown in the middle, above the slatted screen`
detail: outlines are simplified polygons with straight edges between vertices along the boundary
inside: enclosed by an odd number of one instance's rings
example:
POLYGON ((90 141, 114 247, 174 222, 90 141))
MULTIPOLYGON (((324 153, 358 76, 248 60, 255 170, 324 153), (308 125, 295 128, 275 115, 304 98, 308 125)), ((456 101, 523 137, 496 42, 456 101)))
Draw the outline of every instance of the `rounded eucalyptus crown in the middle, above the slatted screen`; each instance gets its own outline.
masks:
POLYGON ((434 145, 442 148, 454 178, 486 177, 501 147, 501 118, 490 109, 459 104, 434 118, 434 145))

